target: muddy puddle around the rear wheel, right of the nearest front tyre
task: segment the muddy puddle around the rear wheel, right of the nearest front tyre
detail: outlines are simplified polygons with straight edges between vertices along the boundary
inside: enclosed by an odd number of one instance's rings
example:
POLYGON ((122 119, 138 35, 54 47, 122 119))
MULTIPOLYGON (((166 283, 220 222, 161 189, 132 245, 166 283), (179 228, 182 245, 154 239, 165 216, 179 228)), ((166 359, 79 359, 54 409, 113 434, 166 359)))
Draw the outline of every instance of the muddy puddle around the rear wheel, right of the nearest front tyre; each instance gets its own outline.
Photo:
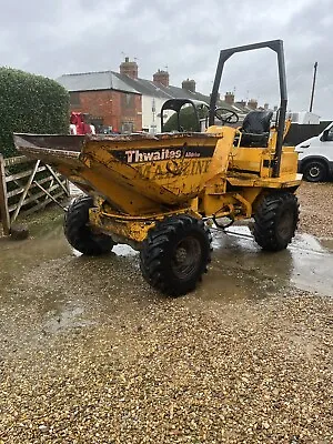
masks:
POLYGON ((213 246, 212 268, 222 274, 221 285, 229 296, 250 292, 263 297, 287 285, 325 295, 333 293, 333 254, 309 234, 297 234, 286 250, 270 253, 255 244, 246 226, 235 226, 228 235, 215 232, 213 246))

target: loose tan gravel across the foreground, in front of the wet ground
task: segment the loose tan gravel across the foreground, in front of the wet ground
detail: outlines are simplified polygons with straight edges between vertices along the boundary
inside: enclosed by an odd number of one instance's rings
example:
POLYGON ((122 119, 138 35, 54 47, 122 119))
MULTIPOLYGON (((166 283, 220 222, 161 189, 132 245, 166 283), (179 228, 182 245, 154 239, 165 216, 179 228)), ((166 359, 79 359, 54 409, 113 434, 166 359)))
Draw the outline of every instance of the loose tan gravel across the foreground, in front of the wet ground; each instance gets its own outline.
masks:
POLYGON ((154 301, 138 321, 12 351, 0 442, 333 442, 331 300, 154 301))

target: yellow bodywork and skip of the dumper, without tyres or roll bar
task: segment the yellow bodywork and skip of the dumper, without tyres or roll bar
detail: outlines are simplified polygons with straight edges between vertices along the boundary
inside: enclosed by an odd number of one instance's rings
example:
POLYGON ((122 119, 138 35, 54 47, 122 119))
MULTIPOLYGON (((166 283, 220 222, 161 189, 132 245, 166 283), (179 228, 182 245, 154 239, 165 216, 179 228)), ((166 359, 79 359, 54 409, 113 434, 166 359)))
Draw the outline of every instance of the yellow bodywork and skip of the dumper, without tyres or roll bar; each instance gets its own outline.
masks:
POLYGON ((244 148, 238 129, 210 127, 205 133, 88 137, 80 152, 65 155, 31 143, 24 151, 95 196, 94 229, 138 246, 168 215, 246 219, 270 190, 294 192, 301 183, 297 153, 284 147, 280 178, 273 178, 275 142, 274 129, 268 148, 244 148))

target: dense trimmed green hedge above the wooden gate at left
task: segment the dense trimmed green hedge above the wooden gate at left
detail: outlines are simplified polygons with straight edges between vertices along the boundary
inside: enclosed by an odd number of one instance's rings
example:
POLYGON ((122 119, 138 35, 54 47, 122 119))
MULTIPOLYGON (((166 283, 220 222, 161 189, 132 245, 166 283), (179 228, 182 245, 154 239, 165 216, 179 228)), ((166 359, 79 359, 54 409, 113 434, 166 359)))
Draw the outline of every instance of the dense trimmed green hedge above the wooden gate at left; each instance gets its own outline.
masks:
POLYGON ((13 132, 68 133, 69 93, 54 80, 0 67, 0 153, 18 155, 13 132))

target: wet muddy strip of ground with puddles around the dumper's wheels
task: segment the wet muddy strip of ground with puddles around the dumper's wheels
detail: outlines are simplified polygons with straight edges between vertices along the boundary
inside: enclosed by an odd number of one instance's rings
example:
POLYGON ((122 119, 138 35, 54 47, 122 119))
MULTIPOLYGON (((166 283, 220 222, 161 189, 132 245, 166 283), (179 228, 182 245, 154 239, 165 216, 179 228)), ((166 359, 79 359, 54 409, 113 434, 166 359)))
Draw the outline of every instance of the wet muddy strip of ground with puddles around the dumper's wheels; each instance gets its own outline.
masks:
MULTIPOLYGON (((189 303, 264 299, 287 293, 290 286, 333 293, 332 240, 297 234, 287 250, 268 253, 248 226, 212 234, 209 274, 188 296, 189 303)), ((82 256, 65 241, 61 220, 22 242, 1 239, 0 249, 0 325, 12 337, 17 325, 24 337, 32 331, 54 334, 111 319, 121 327, 129 320, 140 324, 145 310, 165 300, 143 281, 138 252, 117 245, 105 256, 82 256)))

